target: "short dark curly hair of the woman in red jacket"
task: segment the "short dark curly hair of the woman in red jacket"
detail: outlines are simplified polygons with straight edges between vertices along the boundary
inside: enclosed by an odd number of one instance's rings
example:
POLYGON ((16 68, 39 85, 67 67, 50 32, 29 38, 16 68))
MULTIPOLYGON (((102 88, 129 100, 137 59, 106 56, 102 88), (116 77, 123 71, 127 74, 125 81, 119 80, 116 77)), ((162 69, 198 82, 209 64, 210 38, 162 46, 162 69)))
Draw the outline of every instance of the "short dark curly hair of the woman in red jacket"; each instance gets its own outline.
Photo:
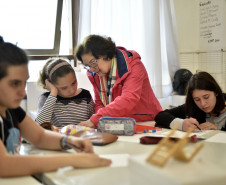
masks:
POLYGON ((89 35, 84 42, 75 49, 76 58, 82 63, 82 55, 91 53, 96 59, 101 56, 104 59, 112 59, 116 55, 116 45, 111 37, 89 35))

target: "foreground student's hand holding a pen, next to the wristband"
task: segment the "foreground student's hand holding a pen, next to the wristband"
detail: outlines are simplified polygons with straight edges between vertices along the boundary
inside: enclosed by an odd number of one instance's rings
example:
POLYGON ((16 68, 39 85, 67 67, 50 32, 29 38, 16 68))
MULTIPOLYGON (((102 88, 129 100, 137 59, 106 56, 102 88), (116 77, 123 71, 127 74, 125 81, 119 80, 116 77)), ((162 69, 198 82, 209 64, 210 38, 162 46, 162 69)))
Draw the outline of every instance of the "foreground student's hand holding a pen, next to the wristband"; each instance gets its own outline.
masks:
POLYGON ((73 145, 78 146, 79 148, 81 148, 82 150, 78 149, 78 148, 74 148, 72 147, 74 150, 76 150, 77 152, 85 152, 85 153, 94 153, 93 151, 93 145, 90 139, 85 139, 85 138, 79 138, 79 137, 75 137, 75 136, 69 136, 67 138, 67 142, 73 145))

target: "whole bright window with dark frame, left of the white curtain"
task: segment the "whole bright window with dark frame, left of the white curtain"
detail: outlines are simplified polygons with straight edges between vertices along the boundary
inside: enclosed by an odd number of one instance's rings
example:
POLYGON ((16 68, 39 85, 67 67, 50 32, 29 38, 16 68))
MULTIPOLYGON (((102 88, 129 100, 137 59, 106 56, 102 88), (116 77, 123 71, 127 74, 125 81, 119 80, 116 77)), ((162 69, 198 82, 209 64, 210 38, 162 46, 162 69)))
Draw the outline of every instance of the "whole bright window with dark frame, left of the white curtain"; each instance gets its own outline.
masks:
MULTIPOLYGON (((28 81, 37 81, 45 60, 51 56, 67 57, 74 63, 72 14, 79 11, 74 0, 0 1, 0 35, 25 49, 29 55, 28 81), (74 4, 74 5, 73 5, 74 4), (72 5, 76 8, 72 8, 72 5)), ((76 45, 76 43, 74 43, 76 45)))

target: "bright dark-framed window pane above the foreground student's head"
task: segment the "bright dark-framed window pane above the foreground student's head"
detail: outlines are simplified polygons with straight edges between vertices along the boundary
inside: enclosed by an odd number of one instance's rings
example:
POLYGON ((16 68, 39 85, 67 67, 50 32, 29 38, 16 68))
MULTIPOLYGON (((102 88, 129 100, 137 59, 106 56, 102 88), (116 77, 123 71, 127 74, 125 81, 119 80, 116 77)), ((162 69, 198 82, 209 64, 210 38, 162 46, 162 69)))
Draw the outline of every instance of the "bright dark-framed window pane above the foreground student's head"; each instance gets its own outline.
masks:
POLYGON ((63 0, 0 2, 0 35, 30 55, 59 54, 63 0))

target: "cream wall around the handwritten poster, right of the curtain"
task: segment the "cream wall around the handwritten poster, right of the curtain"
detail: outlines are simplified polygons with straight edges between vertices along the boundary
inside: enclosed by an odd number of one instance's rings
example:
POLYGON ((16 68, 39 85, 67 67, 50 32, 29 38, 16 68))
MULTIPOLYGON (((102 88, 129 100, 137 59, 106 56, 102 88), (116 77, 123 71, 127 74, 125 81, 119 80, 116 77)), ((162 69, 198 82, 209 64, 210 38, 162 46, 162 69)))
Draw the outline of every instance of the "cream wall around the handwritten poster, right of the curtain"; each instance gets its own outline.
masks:
POLYGON ((193 73, 209 72, 226 92, 226 0, 174 0, 174 3, 180 67, 193 73), (222 25, 212 31, 221 40, 218 45, 204 43, 200 36, 200 2, 219 5, 217 18, 222 25))

